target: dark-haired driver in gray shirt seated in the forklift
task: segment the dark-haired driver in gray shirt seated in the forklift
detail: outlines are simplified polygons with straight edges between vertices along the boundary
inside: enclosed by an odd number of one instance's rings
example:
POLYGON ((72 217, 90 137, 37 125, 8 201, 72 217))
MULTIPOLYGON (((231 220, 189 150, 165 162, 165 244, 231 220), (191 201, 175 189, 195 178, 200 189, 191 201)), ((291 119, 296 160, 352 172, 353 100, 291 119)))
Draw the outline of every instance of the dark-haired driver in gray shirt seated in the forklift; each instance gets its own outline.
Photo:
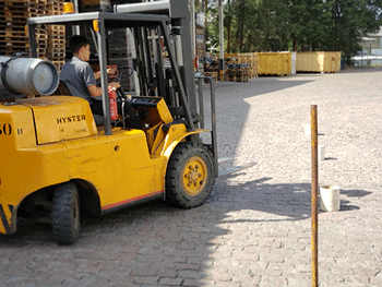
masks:
MULTIPOLYGON (((67 85, 72 96, 86 99, 94 115, 104 116, 103 104, 99 98, 103 88, 97 86, 96 82, 100 77, 100 72, 94 73, 91 64, 87 62, 91 58, 89 41, 83 36, 75 35, 70 39, 70 48, 73 52, 73 58, 62 65, 60 79, 67 85)), ((109 75, 115 74, 116 71, 116 68, 107 69, 109 75)), ((111 82, 108 86, 117 89, 121 85, 118 82, 111 82)), ((121 103, 117 101, 117 105, 120 112, 121 103)), ((124 109, 130 128, 139 129, 140 124, 133 115, 131 105, 124 105, 124 109)))

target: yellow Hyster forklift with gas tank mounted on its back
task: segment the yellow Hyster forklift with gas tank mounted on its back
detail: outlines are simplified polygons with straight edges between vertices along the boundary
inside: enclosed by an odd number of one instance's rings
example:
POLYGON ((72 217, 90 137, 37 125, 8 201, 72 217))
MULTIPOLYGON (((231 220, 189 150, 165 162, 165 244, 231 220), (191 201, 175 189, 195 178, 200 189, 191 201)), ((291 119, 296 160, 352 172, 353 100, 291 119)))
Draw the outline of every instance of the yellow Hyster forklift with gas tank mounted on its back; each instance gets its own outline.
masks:
POLYGON ((194 79, 187 0, 32 17, 27 26, 31 58, 0 57, 0 234, 15 232, 17 217, 45 216, 57 242, 71 244, 82 214, 157 199, 183 208, 206 201, 218 176, 214 83, 208 79, 205 130, 202 88, 195 93, 205 79, 194 79), (85 26, 94 35, 100 124, 86 100, 62 88, 56 67, 37 59, 39 25, 85 26), (120 89, 117 100, 132 106, 139 129, 127 115, 110 115, 107 43, 115 29, 133 38, 135 95, 120 89))

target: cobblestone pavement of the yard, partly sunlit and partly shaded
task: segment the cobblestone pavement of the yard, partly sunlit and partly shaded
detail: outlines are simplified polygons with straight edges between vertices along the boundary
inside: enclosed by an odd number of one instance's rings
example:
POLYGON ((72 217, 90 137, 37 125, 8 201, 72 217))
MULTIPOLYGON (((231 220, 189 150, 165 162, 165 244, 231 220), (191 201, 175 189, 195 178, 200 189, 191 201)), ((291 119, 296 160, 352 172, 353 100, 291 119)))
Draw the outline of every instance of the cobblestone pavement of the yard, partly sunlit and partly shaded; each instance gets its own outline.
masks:
POLYGON ((74 246, 21 224, 0 237, 0 286, 311 286, 311 105, 320 184, 341 187, 341 211, 319 214, 320 286, 382 286, 382 70, 218 83, 216 96, 223 167, 255 166, 194 210, 87 219, 74 246))

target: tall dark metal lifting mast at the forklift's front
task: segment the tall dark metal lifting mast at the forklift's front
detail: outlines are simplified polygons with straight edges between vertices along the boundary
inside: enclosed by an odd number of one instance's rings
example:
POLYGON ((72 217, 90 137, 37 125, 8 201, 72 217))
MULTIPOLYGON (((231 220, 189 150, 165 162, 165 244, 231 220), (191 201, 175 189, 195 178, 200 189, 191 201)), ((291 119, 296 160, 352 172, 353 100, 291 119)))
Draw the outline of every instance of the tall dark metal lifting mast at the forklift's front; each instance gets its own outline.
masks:
MULTIPOLYGON (((191 122, 189 123, 189 128, 191 130, 194 129, 193 124, 194 122, 200 122, 203 119, 201 119, 198 115, 198 101, 195 97, 195 88, 194 88, 194 71, 193 71, 193 58, 192 58, 192 51, 191 51, 191 31, 190 31, 190 15, 189 15, 189 8, 188 8, 188 0, 165 0, 165 1, 154 1, 154 2, 141 2, 141 3, 130 3, 130 4, 117 4, 114 7, 115 13, 140 13, 140 14, 163 14, 167 15, 170 19, 170 37, 171 41, 175 46, 175 53, 176 53, 176 60, 177 65, 180 74, 180 79, 183 86, 183 92, 181 91, 181 87, 178 86, 176 89, 178 89, 178 93, 182 94, 184 93, 184 99, 186 103, 182 100, 182 95, 180 96, 181 106, 183 106, 183 109, 189 109, 190 116, 192 118, 191 122)), ((150 46, 148 39, 147 39, 147 31, 143 29, 135 29, 134 33, 135 38, 135 47, 138 50, 138 53, 141 53, 140 59, 143 59, 142 57, 144 55, 144 48, 147 48, 150 46)), ((166 41, 166 35, 164 35, 165 41, 166 41)), ((159 38, 156 37, 157 45, 159 44, 159 38)), ((168 39, 169 40, 169 39, 168 39)), ((155 40, 153 40, 153 47, 154 51, 156 50, 155 40)), ((160 50, 160 49, 159 49, 160 50)), ((176 73, 178 71, 171 71, 170 69, 163 69, 162 67, 162 55, 158 55, 159 57, 155 57, 155 67, 153 71, 153 67, 150 64, 151 61, 146 61, 147 65, 144 67, 146 73, 141 71, 141 75, 144 76, 147 75, 148 79, 140 79, 141 86, 143 83, 143 89, 151 89, 150 95, 154 96, 154 91, 150 86, 145 86, 144 83, 154 84, 155 88, 158 91, 158 96, 162 96, 165 98, 167 105, 169 106, 170 110, 175 115, 181 116, 181 113, 188 113, 188 111, 182 111, 181 109, 175 107, 177 106, 177 99, 171 96, 171 92, 168 88, 167 89, 164 83, 166 83, 166 80, 170 77, 176 77, 176 73), (158 59, 159 58, 159 59, 158 59), (165 74, 163 71, 166 71, 165 74), (155 79, 154 75, 155 74, 155 79), (155 83, 156 82, 156 83, 155 83)), ((171 60, 171 57, 170 57, 171 60)), ((144 63, 141 61, 138 64, 138 69, 143 68, 144 63)), ((174 67, 174 65, 172 65, 174 67)), ((167 81, 168 82, 168 81, 167 81)), ((184 115, 183 115, 184 116, 184 115)))

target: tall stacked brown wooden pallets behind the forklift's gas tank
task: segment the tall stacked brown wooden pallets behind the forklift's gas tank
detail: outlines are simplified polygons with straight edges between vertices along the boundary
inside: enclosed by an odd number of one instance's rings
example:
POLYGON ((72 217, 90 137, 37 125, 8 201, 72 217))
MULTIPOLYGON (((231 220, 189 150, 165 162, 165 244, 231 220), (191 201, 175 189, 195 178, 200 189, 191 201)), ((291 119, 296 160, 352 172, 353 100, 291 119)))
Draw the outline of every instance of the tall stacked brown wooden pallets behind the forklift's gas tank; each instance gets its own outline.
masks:
MULTIPOLYGON (((63 0, 2 0, 0 2, 0 56, 29 52, 26 20, 62 13, 63 0)), ((64 26, 36 26, 37 57, 60 67, 64 61, 64 26), (57 40, 59 39, 59 40, 57 40)))

